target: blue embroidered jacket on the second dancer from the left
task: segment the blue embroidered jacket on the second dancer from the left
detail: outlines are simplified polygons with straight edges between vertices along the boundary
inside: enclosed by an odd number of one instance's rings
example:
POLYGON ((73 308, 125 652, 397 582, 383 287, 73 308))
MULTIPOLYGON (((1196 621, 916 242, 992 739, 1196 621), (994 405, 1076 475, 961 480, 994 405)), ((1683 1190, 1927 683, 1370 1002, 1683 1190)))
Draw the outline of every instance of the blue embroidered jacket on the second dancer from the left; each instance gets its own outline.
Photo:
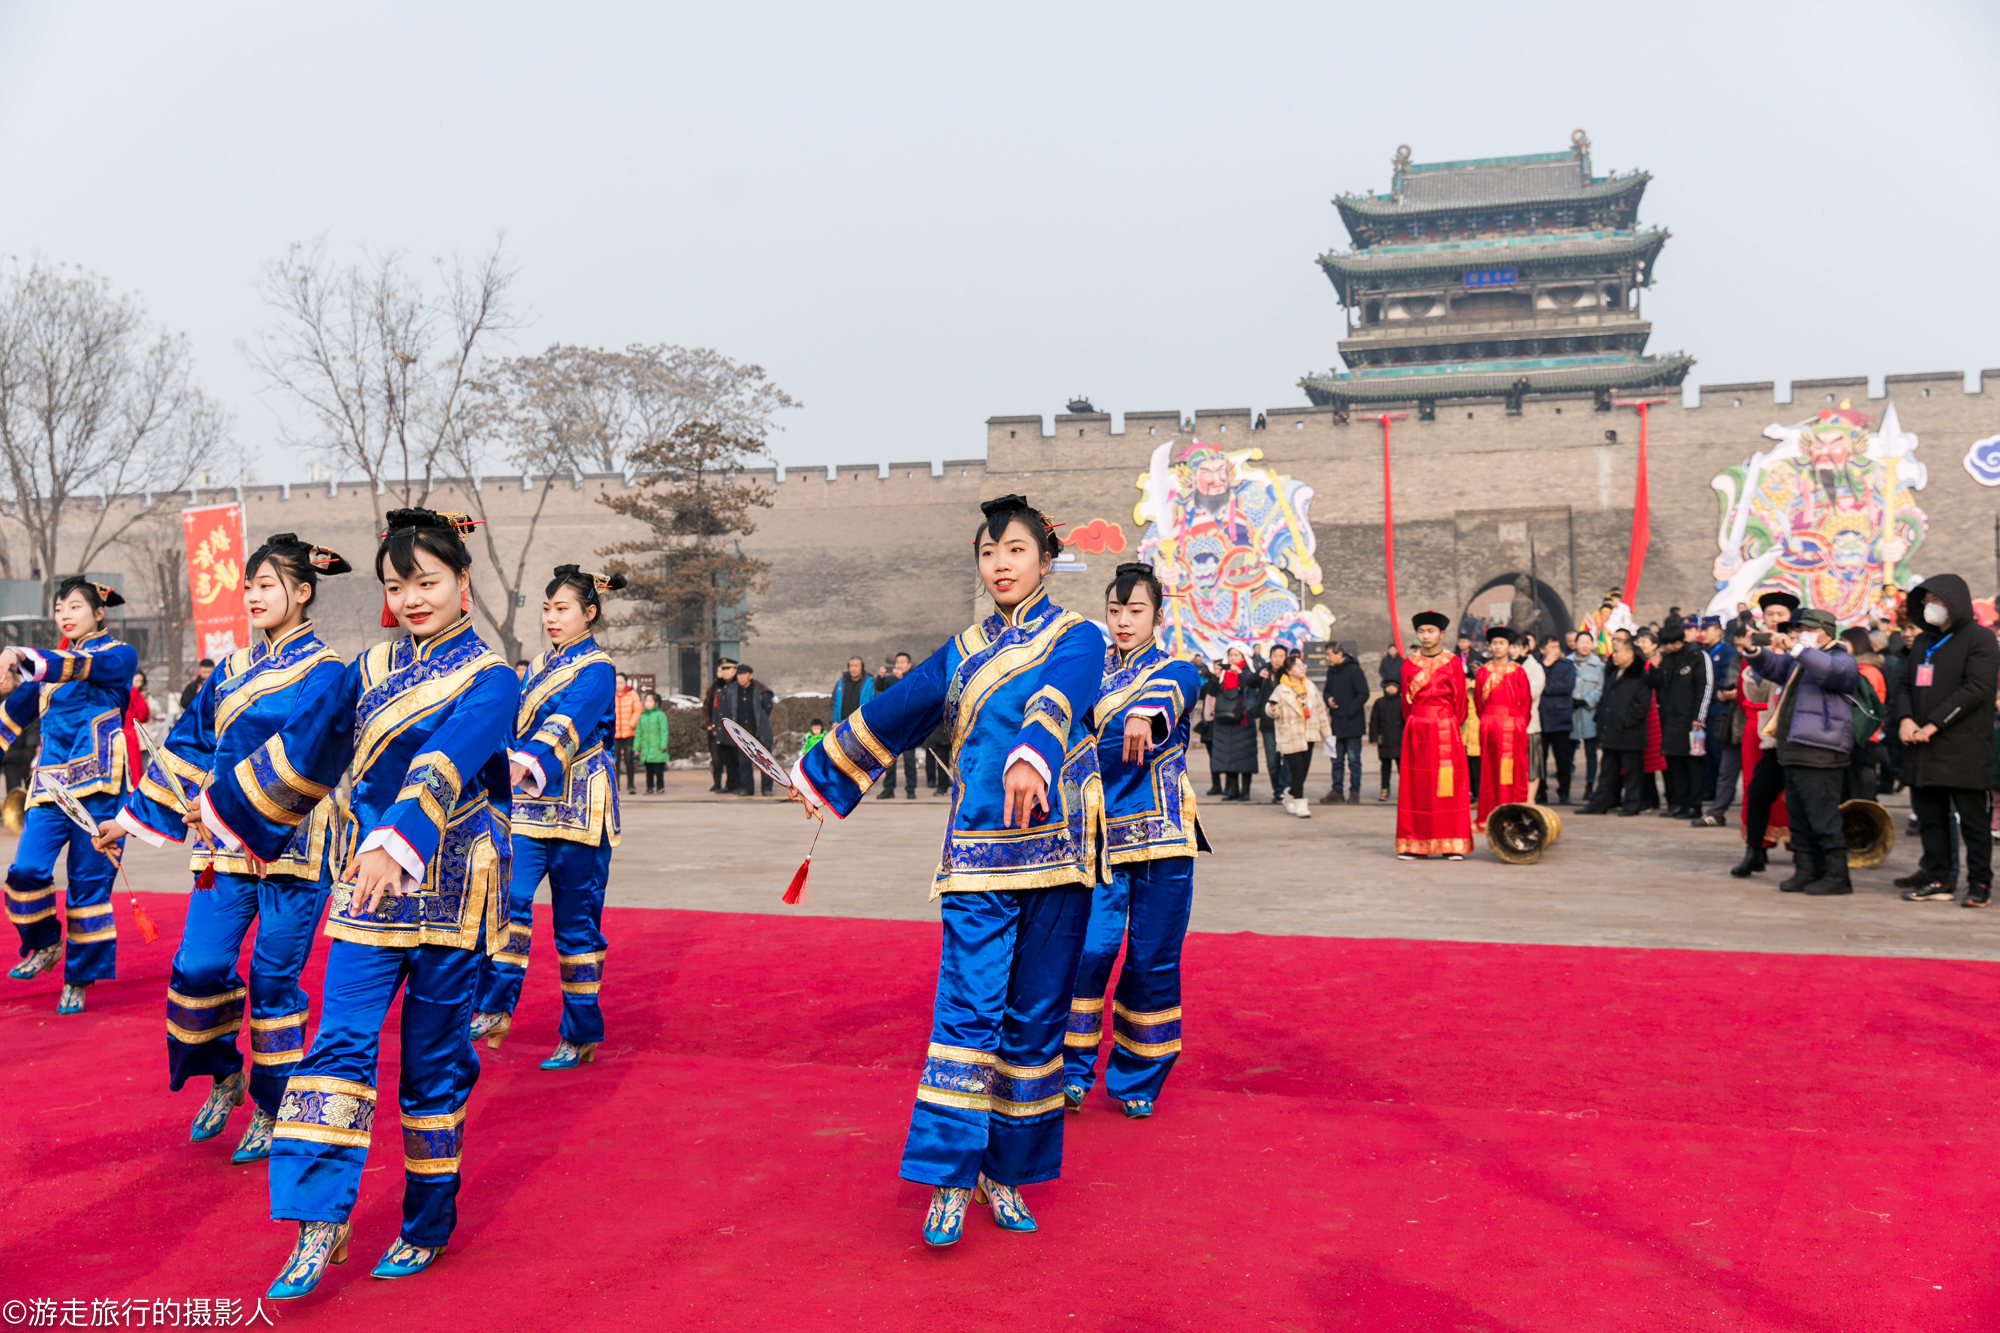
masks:
MULTIPOLYGON (((300 624, 276 642, 264 642, 260 634, 248 648, 230 652, 208 673, 194 703, 160 745, 174 771, 172 779, 158 763, 146 761, 138 787, 118 811, 118 823, 154 847, 186 841, 188 827, 180 815, 188 807, 174 795, 174 783, 194 801, 210 783, 210 765, 224 737, 240 749, 266 741, 298 711, 300 699, 326 695, 344 671, 340 654, 320 642, 312 624, 300 624)), ((334 793, 312 807, 312 817, 298 825, 292 841, 266 865, 266 873, 318 885, 322 875, 338 875, 352 851, 354 817, 334 793)), ((196 829, 188 869, 208 867, 236 875, 256 873, 240 851, 232 853, 208 829, 196 829)))

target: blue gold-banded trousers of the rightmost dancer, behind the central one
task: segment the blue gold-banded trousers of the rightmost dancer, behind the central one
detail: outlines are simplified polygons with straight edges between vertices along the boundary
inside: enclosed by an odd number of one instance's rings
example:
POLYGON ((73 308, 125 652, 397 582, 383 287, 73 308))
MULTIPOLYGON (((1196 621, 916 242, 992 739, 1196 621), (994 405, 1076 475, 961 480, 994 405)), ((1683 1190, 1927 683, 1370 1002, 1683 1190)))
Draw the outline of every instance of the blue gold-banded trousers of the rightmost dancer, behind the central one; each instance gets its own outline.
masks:
POLYGON ((1090 935, 1076 967, 1064 1083, 1090 1087, 1104 1037, 1104 987, 1118 945, 1126 963, 1112 1001, 1112 1059, 1104 1091, 1116 1101, 1156 1101, 1180 1059, 1180 945, 1194 903, 1194 857, 1114 867, 1090 901, 1090 935))

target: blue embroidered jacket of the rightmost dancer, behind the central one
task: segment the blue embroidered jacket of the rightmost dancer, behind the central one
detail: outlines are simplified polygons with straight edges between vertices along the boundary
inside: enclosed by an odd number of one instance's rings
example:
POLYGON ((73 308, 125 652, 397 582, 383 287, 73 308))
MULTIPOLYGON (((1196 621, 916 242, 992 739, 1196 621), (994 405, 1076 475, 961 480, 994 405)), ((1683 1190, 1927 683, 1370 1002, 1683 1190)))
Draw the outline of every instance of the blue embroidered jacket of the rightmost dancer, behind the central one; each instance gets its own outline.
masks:
POLYGON ((1104 654, 1104 693, 1090 711, 1104 773, 1104 861, 1164 861, 1208 851, 1188 783, 1190 705, 1202 677, 1192 662, 1146 642, 1118 660, 1104 654), (1136 765, 1124 761, 1124 729, 1132 715, 1152 719, 1154 749, 1136 765))

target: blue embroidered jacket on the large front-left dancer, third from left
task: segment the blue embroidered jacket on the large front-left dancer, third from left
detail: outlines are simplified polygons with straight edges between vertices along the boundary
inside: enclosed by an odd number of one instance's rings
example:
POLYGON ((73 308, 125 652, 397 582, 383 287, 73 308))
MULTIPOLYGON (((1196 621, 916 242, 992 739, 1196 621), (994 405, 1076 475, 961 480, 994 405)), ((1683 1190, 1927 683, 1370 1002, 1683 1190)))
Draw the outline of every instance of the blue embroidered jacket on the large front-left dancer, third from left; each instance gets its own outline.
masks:
POLYGON ((268 741, 226 743, 202 797, 204 823, 264 859, 276 857, 342 773, 352 779, 358 853, 402 865, 406 897, 354 911, 352 863, 334 885, 326 933, 390 949, 488 951, 506 931, 512 869, 508 765, 520 683, 472 618, 424 642, 368 648, 330 689, 302 695, 268 741))

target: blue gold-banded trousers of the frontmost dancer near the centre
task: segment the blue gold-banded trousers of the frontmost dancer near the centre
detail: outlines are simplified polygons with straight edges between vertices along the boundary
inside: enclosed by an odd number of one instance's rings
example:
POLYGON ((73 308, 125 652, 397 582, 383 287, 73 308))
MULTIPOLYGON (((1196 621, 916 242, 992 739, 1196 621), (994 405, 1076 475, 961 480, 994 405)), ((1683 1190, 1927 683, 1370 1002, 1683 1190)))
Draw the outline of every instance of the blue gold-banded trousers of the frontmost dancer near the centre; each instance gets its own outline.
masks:
POLYGON ((944 895, 930 1053, 902 1179, 970 1187, 1062 1173, 1062 1027, 1090 889, 944 895))

